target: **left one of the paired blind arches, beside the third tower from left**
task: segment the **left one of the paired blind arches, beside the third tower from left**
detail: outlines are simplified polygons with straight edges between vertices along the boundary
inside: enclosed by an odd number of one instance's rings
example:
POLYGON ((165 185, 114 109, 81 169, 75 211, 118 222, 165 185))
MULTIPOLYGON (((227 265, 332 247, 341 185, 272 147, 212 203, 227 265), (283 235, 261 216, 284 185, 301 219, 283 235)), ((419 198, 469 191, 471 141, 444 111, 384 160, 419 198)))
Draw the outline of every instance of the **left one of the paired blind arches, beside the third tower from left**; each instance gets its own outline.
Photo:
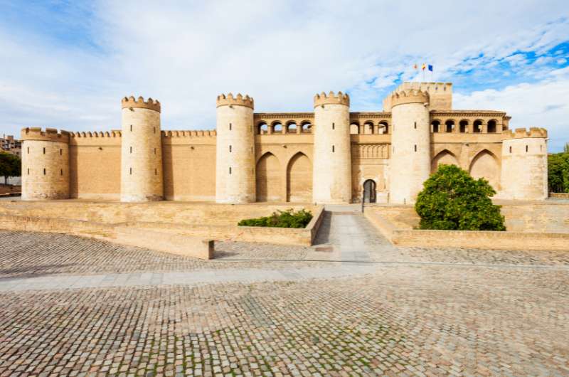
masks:
POLYGON ((282 201, 281 168, 277 157, 267 152, 257 161, 257 201, 282 201))

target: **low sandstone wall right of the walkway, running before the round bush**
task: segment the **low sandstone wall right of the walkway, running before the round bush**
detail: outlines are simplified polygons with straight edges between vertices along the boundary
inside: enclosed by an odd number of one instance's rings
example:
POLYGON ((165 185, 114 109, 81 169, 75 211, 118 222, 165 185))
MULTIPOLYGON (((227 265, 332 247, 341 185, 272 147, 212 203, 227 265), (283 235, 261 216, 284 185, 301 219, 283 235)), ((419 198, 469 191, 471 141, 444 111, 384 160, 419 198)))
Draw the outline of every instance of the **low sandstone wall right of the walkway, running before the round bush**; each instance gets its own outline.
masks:
MULTIPOLYGON (((403 217, 412 208, 400 208, 403 217)), ((569 233, 418 230, 393 221, 398 207, 366 208, 364 215, 391 243, 408 247, 569 251, 569 233), (385 210, 385 211, 384 211, 385 210), (398 226, 399 225, 399 226, 398 226)), ((416 215, 415 215, 416 216, 416 215)))

